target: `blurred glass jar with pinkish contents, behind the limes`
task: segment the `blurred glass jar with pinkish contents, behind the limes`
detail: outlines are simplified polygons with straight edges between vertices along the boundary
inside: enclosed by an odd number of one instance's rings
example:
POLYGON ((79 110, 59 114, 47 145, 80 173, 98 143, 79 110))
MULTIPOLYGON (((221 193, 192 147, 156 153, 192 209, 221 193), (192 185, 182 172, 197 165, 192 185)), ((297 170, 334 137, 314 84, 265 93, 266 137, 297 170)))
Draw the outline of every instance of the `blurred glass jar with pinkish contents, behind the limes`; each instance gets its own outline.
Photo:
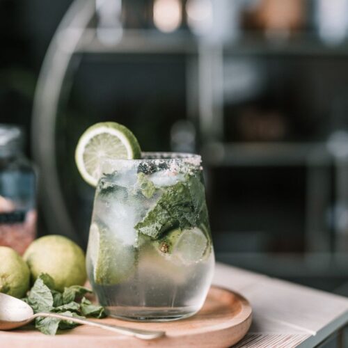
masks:
POLYGON ((35 171, 22 152, 22 129, 0 124, 0 246, 23 254, 35 239, 35 171))

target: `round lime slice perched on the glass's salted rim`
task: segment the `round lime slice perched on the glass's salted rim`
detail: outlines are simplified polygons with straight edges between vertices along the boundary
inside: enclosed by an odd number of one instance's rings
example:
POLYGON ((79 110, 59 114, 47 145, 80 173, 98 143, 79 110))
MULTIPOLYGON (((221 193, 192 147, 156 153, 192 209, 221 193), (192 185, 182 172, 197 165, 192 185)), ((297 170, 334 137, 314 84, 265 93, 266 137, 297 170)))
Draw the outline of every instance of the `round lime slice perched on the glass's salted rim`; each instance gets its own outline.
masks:
POLYGON ((82 134, 75 161, 88 184, 97 186, 103 159, 139 159, 141 149, 134 134, 116 122, 100 122, 82 134))

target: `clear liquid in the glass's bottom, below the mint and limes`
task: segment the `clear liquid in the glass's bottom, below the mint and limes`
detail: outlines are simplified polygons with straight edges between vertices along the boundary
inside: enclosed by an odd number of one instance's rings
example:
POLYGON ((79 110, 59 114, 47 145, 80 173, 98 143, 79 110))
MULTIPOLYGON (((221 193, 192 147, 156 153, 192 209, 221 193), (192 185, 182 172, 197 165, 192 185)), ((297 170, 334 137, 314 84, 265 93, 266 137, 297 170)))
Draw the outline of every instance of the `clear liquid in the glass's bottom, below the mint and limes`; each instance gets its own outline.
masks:
MULTIPOLYGON (((92 269, 92 265, 88 268, 92 269)), ((213 271, 213 253, 204 262, 180 266, 151 251, 142 251, 134 274, 126 282, 94 284, 93 288, 111 316, 167 321, 189 317, 200 310, 213 271)), ((89 276, 93 278, 92 274, 89 276)))

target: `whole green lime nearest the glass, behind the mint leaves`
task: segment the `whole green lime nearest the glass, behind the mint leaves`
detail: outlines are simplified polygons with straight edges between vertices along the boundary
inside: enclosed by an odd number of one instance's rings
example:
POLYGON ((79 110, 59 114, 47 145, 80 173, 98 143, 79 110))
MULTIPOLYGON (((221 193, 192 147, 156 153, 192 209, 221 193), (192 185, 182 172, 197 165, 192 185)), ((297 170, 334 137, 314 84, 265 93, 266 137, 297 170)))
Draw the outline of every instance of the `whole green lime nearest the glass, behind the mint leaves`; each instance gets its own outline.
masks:
POLYGON ((26 249, 23 258, 33 280, 41 273, 47 273, 54 279, 54 287, 58 291, 86 282, 84 251, 66 237, 48 235, 36 239, 26 249))

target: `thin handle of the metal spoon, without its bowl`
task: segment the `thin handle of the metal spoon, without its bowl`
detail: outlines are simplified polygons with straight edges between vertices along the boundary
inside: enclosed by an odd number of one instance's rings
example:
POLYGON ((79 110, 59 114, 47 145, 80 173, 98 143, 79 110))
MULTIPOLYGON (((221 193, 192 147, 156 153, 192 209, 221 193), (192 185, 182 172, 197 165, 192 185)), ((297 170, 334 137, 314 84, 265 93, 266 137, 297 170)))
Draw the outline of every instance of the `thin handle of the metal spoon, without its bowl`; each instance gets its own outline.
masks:
POLYGON ((105 329, 105 330, 113 331, 116 333, 122 333, 123 335, 129 335, 136 338, 141 338, 142 340, 153 340, 154 338, 159 338, 165 334, 164 331, 131 329, 131 328, 125 328, 122 326, 116 326, 111 324, 100 324, 99 322, 95 322, 94 320, 68 317, 67 315, 61 315, 57 313, 36 313, 35 315, 33 315, 33 318, 36 318, 36 317, 52 317, 57 319, 63 319, 69 322, 77 323, 77 324, 95 326, 95 327, 99 327, 100 329, 105 329))

